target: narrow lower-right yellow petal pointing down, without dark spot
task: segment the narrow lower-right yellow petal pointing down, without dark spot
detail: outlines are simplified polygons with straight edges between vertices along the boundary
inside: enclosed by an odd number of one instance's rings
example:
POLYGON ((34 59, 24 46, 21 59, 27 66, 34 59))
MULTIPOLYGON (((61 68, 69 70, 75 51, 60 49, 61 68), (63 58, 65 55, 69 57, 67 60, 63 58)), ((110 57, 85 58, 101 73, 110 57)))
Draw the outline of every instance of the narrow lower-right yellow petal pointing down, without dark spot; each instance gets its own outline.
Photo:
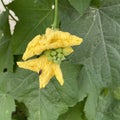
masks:
POLYGON ((58 80, 58 82, 61 85, 63 85, 64 79, 63 79, 62 71, 60 69, 60 65, 53 63, 53 70, 54 70, 54 74, 55 74, 56 79, 58 80))

